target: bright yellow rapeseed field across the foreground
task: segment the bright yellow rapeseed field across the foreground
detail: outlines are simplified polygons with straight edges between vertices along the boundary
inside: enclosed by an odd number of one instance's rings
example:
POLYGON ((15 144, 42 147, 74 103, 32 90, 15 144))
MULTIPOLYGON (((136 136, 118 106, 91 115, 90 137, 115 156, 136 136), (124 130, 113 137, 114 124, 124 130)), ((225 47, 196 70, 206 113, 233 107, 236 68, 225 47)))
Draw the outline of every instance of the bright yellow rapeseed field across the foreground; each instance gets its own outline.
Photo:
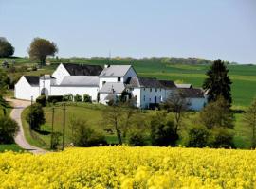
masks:
POLYGON ((5 152, 0 188, 256 188, 256 151, 106 146, 5 152))

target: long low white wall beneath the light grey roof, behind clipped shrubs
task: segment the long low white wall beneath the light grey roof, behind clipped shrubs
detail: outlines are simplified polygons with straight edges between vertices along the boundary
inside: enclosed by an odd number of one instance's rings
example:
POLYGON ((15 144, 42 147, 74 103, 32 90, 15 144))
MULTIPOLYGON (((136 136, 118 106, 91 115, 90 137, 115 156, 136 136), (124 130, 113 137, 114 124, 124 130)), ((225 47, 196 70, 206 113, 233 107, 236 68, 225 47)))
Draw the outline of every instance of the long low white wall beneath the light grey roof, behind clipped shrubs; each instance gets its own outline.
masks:
POLYGON ((84 87, 84 86, 51 86, 51 95, 65 95, 65 94, 88 94, 92 100, 97 100, 99 88, 98 87, 84 87))

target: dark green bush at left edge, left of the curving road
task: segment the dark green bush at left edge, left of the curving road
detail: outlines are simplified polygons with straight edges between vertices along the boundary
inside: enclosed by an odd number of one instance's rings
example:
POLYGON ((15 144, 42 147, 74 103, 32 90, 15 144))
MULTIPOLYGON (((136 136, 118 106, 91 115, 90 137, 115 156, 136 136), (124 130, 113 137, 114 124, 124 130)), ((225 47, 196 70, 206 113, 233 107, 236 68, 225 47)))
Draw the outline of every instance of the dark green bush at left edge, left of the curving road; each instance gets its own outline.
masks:
POLYGON ((9 117, 0 117, 0 144, 14 143, 14 136, 19 130, 18 124, 9 117))

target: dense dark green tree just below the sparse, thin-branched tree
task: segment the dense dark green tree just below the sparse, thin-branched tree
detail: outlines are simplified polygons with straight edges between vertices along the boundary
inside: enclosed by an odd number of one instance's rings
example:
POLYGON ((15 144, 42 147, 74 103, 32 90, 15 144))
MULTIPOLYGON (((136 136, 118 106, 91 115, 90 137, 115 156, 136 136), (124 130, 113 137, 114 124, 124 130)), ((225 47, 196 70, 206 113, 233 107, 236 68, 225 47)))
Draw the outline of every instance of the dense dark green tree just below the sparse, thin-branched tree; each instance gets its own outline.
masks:
POLYGON ((153 146, 175 146, 178 135, 175 132, 174 121, 168 120, 166 117, 166 112, 157 112, 151 120, 150 128, 153 146))

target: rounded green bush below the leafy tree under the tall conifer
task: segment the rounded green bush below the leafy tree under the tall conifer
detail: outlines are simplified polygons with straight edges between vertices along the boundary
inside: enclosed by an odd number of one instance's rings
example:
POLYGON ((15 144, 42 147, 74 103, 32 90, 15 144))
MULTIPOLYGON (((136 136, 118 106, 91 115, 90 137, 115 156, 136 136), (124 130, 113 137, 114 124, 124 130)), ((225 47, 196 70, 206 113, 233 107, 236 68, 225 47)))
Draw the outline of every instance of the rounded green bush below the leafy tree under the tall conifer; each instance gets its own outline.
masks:
POLYGON ((226 128, 215 128, 211 130, 209 145, 211 147, 234 147, 233 131, 226 128))

